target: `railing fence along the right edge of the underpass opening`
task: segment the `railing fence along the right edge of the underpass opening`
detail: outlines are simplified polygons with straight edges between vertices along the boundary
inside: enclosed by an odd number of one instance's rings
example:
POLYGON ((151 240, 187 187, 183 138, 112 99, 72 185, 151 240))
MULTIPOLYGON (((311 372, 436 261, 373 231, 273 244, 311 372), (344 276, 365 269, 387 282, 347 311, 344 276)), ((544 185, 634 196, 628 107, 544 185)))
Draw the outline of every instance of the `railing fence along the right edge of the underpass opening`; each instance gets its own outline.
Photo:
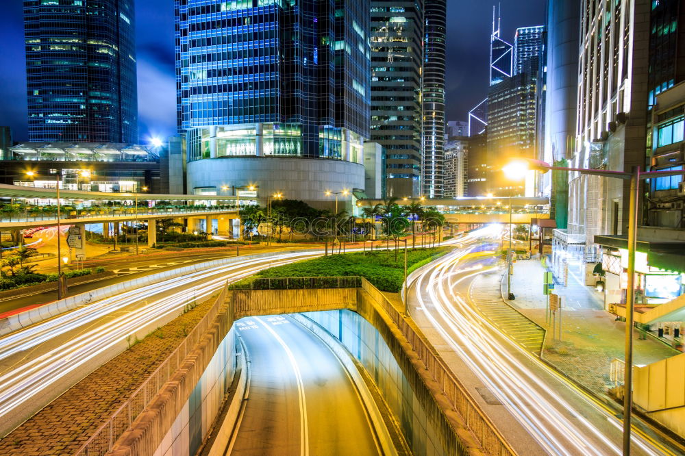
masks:
POLYGON ((488 455, 515 455, 514 450, 506 442, 503 435, 497 431, 490 418, 473 401, 473 398, 466 392, 460 381, 453 376, 445 362, 434 353, 432 347, 426 344, 423 338, 416 333, 408 320, 369 281, 362 279, 361 282, 362 289, 369 293, 385 310, 390 316, 390 320, 393 320, 412 349, 419 355, 430 376, 440 385, 452 407, 464 418, 466 427, 475 435, 484 452, 488 455))

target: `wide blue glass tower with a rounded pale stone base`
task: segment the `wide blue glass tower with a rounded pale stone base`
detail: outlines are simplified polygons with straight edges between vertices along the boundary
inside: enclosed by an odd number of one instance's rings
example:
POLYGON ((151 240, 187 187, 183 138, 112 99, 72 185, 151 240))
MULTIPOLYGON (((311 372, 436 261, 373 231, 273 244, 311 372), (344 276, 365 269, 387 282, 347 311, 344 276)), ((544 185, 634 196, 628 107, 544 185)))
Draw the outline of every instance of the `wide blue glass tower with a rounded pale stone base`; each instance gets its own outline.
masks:
POLYGON ((369 8, 351 0, 175 1, 188 192, 255 184, 260 194, 317 201, 325 190, 364 188, 369 8))

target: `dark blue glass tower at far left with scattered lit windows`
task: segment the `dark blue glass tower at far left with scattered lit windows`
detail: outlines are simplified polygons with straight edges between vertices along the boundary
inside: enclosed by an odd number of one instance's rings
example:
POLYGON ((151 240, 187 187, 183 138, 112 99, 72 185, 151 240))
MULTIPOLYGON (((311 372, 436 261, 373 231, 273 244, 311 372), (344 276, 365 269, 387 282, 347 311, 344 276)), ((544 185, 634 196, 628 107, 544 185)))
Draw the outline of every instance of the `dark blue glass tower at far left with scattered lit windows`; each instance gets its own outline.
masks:
POLYGON ((133 0, 24 0, 29 140, 138 142, 133 0))

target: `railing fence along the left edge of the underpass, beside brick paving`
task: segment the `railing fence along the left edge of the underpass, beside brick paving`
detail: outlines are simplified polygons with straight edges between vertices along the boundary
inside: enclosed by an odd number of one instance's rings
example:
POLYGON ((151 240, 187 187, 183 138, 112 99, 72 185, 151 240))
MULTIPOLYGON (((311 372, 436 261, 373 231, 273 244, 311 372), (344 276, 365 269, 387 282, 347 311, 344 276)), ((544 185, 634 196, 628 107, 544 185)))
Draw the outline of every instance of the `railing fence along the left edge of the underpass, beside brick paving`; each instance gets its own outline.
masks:
MULTIPOLYGON (((214 305, 207 314, 195 325, 195 328, 184 338, 179 346, 167 357, 164 362, 145 380, 131 397, 117 409, 114 414, 103 424, 95 434, 75 453, 84 456, 105 455, 114 442, 129 428, 134 420, 145 409, 151 399, 162 389, 162 385, 169 380, 176 370, 192 351, 195 344, 206 333, 220 307, 226 300, 227 286, 224 286, 214 305)), ((175 418, 175 417, 174 417, 175 418)))

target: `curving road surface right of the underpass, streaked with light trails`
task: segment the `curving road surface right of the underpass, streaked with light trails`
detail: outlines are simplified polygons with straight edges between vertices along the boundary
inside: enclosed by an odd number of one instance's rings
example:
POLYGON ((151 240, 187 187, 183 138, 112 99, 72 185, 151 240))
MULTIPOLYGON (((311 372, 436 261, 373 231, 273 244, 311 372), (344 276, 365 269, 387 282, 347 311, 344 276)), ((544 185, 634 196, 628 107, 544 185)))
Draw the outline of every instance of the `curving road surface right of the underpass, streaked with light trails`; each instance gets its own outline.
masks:
MULTIPOLYGON (((412 317, 475 396, 486 399, 486 413, 520 454, 620 455, 620 417, 540 362, 531 347, 510 340, 469 302, 471 281, 493 268, 492 255, 469 259, 479 241, 473 236, 423 270, 408 293, 412 317)), ((675 454, 637 429, 634 435, 634 455, 675 454)))

